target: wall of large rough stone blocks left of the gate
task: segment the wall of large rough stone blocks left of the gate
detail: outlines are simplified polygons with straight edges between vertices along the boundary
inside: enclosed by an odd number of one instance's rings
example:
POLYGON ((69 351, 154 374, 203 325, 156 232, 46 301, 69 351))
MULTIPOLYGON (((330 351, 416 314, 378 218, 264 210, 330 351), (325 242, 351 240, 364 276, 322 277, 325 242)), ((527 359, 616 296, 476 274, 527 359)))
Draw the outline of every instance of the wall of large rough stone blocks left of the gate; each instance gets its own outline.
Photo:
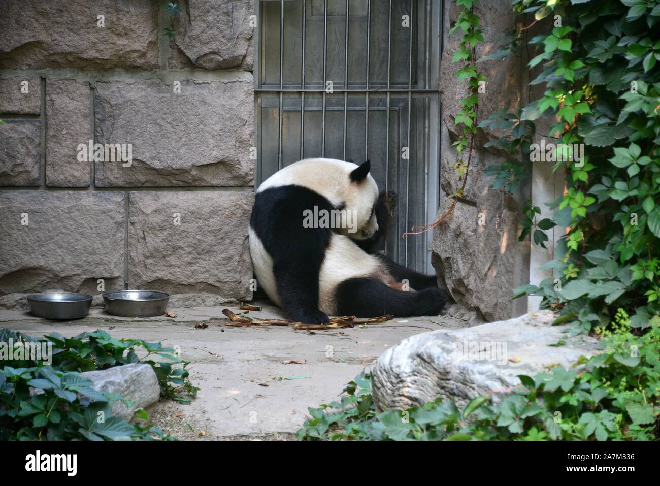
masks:
POLYGON ((165 4, 3 2, 0 295, 251 298, 253 0, 165 4))

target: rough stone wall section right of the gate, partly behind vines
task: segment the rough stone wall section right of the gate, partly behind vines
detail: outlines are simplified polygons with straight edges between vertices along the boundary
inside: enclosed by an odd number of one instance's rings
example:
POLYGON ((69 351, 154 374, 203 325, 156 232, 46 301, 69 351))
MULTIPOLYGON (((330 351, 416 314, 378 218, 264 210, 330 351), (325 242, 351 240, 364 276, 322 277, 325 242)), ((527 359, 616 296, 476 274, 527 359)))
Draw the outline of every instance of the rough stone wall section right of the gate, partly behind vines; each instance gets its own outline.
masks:
MULTIPOLYGON (((451 143, 458 137, 455 114, 459 101, 467 96, 466 83, 459 83, 451 63, 461 38, 460 30, 448 35, 458 15, 454 2, 446 2, 444 50, 442 52, 440 88, 442 96, 442 134, 440 160, 441 203, 438 217, 453 203, 446 195, 461 188, 455 170, 457 153, 451 143)), ((484 43, 477 46, 482 57, 498 46, 498 41, 515 27, 510 0, 482 2, 477 6, 484 30, 484 43)), ((517 112, 525 106, 527 76, 524 57, 479 63, 480 72, 488 80, 485 92, 479 94, 479 121, 506 108, 517 112)), ((515 194, 490 189, 492 178, 484 175, 490 165, 501 164, 506 155, 485 143, 504 132, 479 130, 463 197, 453 215, 434 229, 432 263, 440 285, 453 299, 475 312, 478 318, 494 321, 520 316, 527 312, 526 298, 511 300, 512 289, 529 281, 529 240, 518 242, 521 232, 521 209, 529 199, 529 187, 515 194)), ((467 157, 467 149, 461 157, 467 157)), ((467 161, 467 160, 466 160, 467 161)))

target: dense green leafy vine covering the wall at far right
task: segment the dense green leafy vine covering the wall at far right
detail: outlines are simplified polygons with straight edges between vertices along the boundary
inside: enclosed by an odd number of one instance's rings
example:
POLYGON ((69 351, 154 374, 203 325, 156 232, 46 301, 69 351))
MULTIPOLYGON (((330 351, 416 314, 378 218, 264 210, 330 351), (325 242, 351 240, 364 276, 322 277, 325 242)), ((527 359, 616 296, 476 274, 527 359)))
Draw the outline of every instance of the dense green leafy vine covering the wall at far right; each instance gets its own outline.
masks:
MULTIPOLYGON (((523 108, 521 123, 552 120, 545 141, 555 147, 545 163, 566 174, 564 194, 547 203, 552 222, 566 228, 558 258, 542 267, 553 275, 516 293, 543 296, 576 331, 607 326, 619 309, 632 328, 658 326, 660 3, 515 0, 513 8, 533 16, 517 39, 537 34, 527 40, 530 84, 545 87, 523 108)), ((512 135, 494 145, 529 141, 528 132, 512 135)), ((530 153, 488 168, 494 188, 515 190, 531 160, 530 153)))

